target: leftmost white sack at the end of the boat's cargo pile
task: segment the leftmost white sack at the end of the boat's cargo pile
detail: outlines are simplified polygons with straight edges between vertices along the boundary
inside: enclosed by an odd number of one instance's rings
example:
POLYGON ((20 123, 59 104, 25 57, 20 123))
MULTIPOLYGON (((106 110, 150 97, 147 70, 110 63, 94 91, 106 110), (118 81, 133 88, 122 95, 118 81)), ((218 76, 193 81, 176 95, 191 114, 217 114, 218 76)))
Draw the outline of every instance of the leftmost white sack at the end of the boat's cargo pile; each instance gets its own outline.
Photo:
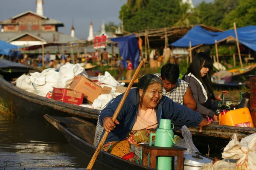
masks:
POLYGON ((21 88, 21 89, 25 90, 25 91, 28 91, 30 93, 35 94, 35 89, 32 85, 32 82, 30 81, 28 75, 23 74, 22 76, 17 78, 16 86, 18 88, 21 88))

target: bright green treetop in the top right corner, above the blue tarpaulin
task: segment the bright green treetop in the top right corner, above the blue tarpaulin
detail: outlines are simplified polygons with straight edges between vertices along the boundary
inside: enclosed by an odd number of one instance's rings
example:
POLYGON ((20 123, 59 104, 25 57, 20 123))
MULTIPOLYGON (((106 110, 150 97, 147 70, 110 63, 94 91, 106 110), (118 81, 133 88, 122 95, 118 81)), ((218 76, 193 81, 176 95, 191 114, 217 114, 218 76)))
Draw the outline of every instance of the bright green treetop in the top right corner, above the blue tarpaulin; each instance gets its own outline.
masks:
POLYGON ((239 5, 230 11, 221 26, 223 29, 233 28, 234 22, 237 27, 256 25, 256 1, 239 0, 239 5))

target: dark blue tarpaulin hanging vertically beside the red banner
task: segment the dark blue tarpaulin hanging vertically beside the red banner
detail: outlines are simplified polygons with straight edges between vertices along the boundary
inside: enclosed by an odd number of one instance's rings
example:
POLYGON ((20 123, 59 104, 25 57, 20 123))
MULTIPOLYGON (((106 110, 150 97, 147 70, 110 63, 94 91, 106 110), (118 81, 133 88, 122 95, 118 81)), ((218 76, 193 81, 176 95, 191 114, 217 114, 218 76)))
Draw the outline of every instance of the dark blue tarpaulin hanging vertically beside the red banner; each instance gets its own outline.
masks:
POLYGON ((124 67, 127 68, 126 59, 130 58, 133 68, 137 68, 139 65, 140 48, 135 34, 126 37, 112 38, 111 41, 118 43, 120 57, 122 56, 124 58, 124 67))

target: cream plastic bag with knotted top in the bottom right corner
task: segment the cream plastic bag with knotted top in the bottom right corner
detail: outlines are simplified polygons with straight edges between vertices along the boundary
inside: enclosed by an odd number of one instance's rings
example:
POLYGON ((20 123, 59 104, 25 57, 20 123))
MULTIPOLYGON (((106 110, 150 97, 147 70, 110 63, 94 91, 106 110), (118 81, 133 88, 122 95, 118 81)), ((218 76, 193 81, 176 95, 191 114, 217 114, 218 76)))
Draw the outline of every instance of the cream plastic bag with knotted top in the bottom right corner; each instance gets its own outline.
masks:
POLYGON ((224 159, 239 159, 236 162, 236 170, 256 169, 256 133, 241 139, 237 139, 236 133, 224 148, 222 153, 224 159))

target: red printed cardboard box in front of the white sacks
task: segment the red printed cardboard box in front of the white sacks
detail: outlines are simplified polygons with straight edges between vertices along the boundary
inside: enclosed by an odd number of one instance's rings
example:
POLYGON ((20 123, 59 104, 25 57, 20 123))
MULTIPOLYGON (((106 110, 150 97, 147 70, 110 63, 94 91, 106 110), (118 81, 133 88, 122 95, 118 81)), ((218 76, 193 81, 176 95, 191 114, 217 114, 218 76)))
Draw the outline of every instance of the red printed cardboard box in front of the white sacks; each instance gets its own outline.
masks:
POLYGON ((83 104, 84 94, 66 88, 53 88, 52 99, 65 103, 81 105, 83 104))

